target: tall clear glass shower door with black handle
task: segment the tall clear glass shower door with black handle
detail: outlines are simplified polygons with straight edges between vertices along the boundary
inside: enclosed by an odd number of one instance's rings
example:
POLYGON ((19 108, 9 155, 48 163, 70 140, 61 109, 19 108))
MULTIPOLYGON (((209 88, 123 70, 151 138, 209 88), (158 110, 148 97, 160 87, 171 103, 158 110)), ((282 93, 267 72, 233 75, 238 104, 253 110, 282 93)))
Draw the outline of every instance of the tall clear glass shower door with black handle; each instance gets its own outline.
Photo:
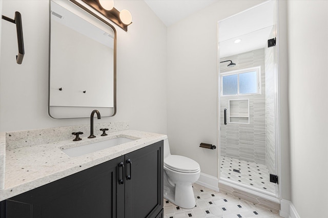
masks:
POLYGON ((276 4, 218 22, 219 183, 269 198, 278 197, 270 182, 270 174, 278 175, 277 52, 268 46, 276 39, 276 4))

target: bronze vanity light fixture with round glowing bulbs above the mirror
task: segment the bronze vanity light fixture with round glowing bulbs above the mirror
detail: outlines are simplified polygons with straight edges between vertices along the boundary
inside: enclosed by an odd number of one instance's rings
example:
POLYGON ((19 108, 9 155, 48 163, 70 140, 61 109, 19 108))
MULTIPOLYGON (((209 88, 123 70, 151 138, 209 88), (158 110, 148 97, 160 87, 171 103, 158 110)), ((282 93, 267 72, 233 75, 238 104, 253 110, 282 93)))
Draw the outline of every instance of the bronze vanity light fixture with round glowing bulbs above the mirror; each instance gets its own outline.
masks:
POLYGON ((92 9, 99 12, 101 15, 104 15, 106 18, 114 22, 118 27, 122 28, 125 31, 128 31, 128 26, 132 23, 131 13, 123 9, 120 12, 114 8, 114 0, 69 0, 78 7, 84 9, 88 13, 92 14, 96 18, 103 20, 101 17, 93 13, 90 9, 79 2, 83 2, 90 6, 92 9))

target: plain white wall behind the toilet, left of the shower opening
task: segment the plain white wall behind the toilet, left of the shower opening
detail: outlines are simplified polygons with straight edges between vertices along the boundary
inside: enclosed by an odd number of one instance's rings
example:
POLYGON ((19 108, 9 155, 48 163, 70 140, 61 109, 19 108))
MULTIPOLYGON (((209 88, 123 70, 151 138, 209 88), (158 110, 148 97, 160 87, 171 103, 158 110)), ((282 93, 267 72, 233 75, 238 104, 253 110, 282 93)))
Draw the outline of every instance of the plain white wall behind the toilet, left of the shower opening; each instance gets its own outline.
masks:
POLYGON ((217 22, 263 1, 218 1, 168 28, 168 137, 173 154, 217 177, 217 22))

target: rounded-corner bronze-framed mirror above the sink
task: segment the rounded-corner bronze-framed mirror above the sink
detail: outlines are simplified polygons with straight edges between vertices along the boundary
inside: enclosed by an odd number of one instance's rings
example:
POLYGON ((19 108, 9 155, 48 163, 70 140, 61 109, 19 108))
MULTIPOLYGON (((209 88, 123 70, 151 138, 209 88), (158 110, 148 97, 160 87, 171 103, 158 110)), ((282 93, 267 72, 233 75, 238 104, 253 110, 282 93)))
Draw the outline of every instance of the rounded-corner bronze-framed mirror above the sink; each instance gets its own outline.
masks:
POLYGON ((97 109, 101 116, 114 116, 116 31, 87 6, 75 4, 50 1, 49 115, 90 117, 97 109))

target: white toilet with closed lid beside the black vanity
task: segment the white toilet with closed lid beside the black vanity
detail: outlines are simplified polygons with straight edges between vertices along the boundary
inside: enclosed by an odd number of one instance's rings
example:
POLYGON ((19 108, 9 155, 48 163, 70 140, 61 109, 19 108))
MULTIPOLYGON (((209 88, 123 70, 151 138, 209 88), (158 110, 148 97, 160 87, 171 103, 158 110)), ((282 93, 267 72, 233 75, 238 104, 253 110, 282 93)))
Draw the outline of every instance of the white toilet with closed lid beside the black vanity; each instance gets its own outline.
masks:
POLYGON ((164 198, 182 208, 196 205, 192 184, 200 176, 199 164, 180 155, 171 155, 169 140, 164 140, 164 198))

